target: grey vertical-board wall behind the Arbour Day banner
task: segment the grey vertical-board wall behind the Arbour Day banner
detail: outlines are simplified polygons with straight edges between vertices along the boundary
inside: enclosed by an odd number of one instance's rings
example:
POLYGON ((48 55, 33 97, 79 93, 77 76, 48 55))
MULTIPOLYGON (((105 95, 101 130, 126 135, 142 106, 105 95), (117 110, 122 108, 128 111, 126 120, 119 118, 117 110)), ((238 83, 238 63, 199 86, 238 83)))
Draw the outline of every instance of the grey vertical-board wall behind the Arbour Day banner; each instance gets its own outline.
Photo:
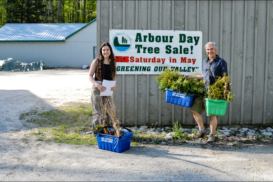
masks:
MULTIPOLYGON (((273 123, 273 1, 97 1, 97 48, 109 29, 202 31, 228 63, 235 101, 218 124, 273 123)), ((202 59, 207 57, 203 48, 202 59)), ((196 125, 189 108, 165 102, 156 75, 118 75, 123 125, 196 125)), ((203 113, 204 124, 209 117, 203 113)))

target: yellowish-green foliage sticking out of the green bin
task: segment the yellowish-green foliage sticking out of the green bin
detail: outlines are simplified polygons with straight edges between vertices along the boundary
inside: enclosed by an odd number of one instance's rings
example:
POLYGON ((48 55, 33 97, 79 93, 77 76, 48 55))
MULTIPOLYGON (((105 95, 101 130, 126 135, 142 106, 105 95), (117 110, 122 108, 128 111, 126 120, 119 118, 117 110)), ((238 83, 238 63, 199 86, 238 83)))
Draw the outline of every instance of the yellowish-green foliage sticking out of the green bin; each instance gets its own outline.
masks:
POLYGON ((208 84, 208 91, 205 95, 206 98, 214 100, 226 100, 228 102, 234 100, 230 77, 224 75, 224 77, 221 78, 221 76, 218 76, 218 79, 213 85, 208 84))

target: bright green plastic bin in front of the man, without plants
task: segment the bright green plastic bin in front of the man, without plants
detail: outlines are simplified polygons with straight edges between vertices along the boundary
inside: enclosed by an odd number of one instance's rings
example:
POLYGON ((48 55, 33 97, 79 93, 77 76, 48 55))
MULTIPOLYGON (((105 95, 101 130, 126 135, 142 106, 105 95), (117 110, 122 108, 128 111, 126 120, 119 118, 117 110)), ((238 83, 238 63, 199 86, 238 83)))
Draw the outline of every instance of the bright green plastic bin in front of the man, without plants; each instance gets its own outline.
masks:
POLYGON ((208 99, 208 98, 205 98, 205 100, 206 100, 207 114, 221 115, 221 116, 224 116, 226 114, 228 101, 214 100, 214 99, 208 99))

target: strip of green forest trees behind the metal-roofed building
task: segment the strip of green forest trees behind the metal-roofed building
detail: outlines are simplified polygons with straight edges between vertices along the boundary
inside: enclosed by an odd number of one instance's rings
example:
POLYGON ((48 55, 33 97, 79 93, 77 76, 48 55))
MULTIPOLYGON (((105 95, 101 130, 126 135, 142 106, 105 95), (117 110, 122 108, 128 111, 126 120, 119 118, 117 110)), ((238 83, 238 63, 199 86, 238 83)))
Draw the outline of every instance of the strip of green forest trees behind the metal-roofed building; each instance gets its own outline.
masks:
POLYGON ((0 27, 6 23, 88 23, 97 16, 94 0, 2 0, 0 27))

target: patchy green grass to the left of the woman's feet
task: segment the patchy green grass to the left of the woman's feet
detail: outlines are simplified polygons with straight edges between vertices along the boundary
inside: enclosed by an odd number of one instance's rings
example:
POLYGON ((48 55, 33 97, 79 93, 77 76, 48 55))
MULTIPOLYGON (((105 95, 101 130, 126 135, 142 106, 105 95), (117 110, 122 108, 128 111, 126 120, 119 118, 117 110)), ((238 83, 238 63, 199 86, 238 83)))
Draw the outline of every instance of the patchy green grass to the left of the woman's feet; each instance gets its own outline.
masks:
POLYGON ((19 119, 39 125, 39 129, 29 133, 35 135, 37 141, 96 145, 98 142, 94 135, 84 135, 92 131, 91 116, 91 104, 73 102, 44 112, 31 110, 20 114, 19 119))

